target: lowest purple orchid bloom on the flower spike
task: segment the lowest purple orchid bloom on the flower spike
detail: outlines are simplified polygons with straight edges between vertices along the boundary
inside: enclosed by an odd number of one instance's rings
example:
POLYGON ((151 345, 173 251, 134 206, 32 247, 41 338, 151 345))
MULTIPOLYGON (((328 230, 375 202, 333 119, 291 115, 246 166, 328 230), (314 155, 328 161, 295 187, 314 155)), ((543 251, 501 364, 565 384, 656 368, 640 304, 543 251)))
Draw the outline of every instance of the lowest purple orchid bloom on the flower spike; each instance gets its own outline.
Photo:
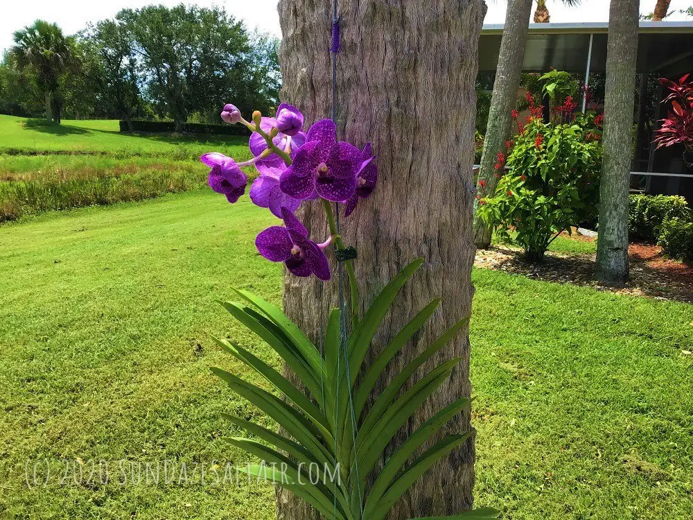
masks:
POLYGON ((260 254, 267 260, 285 263, 296 276, 330 279, 330 266, 323 250, 331 240, 324 244, 313 242, 308 239, 308 230, 288 209, 281 208, 281 214, 286 227, 268 227, 255 239, 260 254))

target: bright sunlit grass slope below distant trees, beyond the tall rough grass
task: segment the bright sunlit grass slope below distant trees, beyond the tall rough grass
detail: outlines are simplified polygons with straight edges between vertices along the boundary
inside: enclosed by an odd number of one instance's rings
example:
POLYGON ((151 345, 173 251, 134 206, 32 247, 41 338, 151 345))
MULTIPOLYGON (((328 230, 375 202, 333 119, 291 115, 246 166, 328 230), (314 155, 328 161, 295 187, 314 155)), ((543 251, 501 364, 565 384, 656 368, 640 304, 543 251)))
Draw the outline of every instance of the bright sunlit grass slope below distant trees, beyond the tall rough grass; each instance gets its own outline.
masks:
POLYGON ((0 115, 0 153, 13 152, 105 152, 123 157, 143 155, 191 155, 247 141, 225 135, 128 134, 119 132, 118 121, 62 121, 61 125, 26 125, 26 118, 0 115))

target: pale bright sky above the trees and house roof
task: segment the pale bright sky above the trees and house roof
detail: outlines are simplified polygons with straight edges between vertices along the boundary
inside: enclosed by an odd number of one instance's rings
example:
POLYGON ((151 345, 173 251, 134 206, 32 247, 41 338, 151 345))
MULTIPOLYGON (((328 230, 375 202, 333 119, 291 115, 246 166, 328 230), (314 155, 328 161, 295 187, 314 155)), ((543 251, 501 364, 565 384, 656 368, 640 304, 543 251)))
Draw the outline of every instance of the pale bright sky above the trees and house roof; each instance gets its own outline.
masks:
MULTIPOLYGON (((424 0, 426 1, 426 0, 424 0)), ((87 22, 112 17, 123 8, 139 8, 150 3, 175 5, 181 0, 5 0, 0 17, 0 49, 12 45, 12 32, 31 24, 37 17, 55 21, 65 33, 71 34, 83 28, 87 22)), ((277 0, 198 0, 184 3, 197 3, 200 6, 216 4, 237 18, 244 19, 251 28, 279 36, 279 15, 277 0)), ((500 24, 505 19, 505 1, 487 0, 489 13, 485 22, 500 24)), ((642 12, 651 12, 656 0, 642 0, 642 12), (651 5, 650 5, 651 4, 651 5)), ((693 5, 693 0, 672 0, 672 9, 682 9, 693 5)), ((552 21, 607 21, 608 1, 583 0, 579 8, 566 8, 558 0, 550 0, 552 21)), ((685 19, 685 17, 672 17, 685 19)))

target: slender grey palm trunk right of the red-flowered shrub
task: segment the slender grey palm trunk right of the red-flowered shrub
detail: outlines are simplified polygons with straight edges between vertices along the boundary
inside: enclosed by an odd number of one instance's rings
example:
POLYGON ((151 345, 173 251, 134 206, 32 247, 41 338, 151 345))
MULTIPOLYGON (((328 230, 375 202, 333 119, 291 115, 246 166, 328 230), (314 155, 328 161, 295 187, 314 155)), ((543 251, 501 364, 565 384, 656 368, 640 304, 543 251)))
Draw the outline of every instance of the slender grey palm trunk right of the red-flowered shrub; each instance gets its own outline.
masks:
POLYGON ((604 164, 599 202, 597 277, 628 279, 628 192, 633 146, 638 0, 611 0, 604 96, 604 164))

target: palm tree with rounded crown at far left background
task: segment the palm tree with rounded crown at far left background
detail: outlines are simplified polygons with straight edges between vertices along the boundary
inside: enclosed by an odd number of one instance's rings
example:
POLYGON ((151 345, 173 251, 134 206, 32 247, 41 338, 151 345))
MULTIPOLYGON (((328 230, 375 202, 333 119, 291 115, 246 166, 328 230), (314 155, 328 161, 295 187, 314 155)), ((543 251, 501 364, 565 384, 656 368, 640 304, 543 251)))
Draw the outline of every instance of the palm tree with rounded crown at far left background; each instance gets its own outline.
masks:
POLYGON ((64 37, 56 24, 44 20, 36 20, 32 25, 15 31, 13 36, 15 45, 10 52, 16 56, 21 69, 31 69, 35 74, 46 102, 46 121, 55 119, 60 122, 60 107, 53 101, 60 76, 74 62, 71 38, 64 37))

